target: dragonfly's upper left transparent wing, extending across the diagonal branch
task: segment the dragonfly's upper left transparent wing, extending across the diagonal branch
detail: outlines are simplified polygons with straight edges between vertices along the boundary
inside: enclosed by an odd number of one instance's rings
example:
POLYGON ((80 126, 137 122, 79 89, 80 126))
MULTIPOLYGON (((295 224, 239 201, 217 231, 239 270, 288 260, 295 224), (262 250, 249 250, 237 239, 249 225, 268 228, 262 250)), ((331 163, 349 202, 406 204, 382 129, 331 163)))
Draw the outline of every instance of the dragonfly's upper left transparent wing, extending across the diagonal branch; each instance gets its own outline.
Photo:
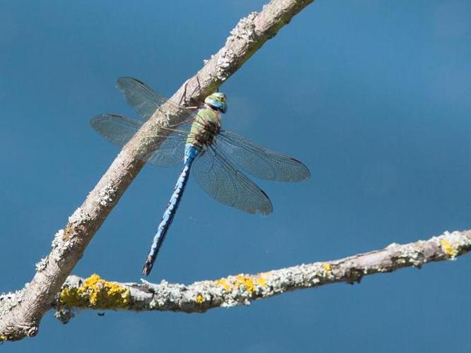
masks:
MULTIPOLYGON (((126 101, 136 109, 144 120, 148 120, 158 107, 168 101, 163 95, 136 78, 118 78, 117 88, 124 93, 126 101)), ((168 104, 172 104, 175 109, 180 109, 184 115, 190 116, 193 113, 192 110, 179 107, 178 104, 172 102, 168 102, 168 104)), ((186 119, 185 116, 182 116, 182 119, 186 119)))

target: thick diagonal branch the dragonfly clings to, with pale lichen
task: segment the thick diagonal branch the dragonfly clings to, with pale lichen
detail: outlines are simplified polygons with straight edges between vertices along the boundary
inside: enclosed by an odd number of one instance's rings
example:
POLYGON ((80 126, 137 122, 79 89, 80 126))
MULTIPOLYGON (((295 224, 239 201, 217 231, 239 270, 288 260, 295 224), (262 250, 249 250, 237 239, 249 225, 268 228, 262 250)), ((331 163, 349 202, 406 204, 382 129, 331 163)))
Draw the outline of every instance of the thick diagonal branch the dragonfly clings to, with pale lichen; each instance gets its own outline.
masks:
MULTIPOLYGON (((231 30, 224 47, 211 56, 170 100, 184 104, 200 102, 311 2, 313 0, 273 0, 260 13, 242 18, 231 30)), ((140 158, 162 143, 156 137, 159 128, 165 124, 178 124, 180 115, 170 104, 163 104, 124 146, 83 204, 69 217, 64 229, 57 232, 52 241, 52 251, 37 264, 33 280, 16 294, 14 305, 10 305, 13 303, 11 300, 8 300, 8 305, 5 301, 3 304, 0 302, 0 340, 20 340, 37 334, 40 320, 50 309, 54 295, 144 166, 140 158)))

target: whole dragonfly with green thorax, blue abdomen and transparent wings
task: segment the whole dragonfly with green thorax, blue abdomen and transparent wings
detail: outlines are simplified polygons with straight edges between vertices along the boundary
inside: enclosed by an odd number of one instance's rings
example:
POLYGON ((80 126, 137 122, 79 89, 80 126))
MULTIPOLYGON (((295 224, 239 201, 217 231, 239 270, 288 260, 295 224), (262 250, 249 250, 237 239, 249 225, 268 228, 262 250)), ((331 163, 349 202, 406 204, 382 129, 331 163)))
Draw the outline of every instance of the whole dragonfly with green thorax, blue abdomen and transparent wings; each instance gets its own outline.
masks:
POLYGON ((302 181, 310 177, 308 167, 299 160, 260 147, 233 131, 221 128, 221 114, 227 112, 226 95, 214 92, 198 107, 182 107, 160 95, 136 78, 122 77, 117 88, 143 119, 130 119, 118 114, 100 114, 91 119, 91 126, 112 143, 124 146, 157 109, 179 109, 182 124, 161 126, 156 136, 164 138, 160 147, 143 158, 158 167, 183 162, 170 201, 165 208, 143 275, 151 273, 158 251, 173 222, 182 199, 190 169, 198 184, 216 201, 247 213, 268 215, 273 207, 267 193, 240 169, 253 177, 273 181, 302 181), (169 105, 170 104, 170 105, 169 105))

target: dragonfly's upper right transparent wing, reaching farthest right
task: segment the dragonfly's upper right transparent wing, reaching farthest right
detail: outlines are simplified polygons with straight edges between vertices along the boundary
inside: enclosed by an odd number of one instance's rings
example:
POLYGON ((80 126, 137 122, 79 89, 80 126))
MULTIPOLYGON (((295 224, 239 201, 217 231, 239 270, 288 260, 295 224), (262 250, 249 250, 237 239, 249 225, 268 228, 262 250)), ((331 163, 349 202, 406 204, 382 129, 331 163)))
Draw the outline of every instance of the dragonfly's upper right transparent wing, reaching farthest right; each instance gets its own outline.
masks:
POLYGON ((232 131, 221 130, 214 145, 254 177, 276 181, 301 181, 308 167, 292 157, 262 148, 232 131))

